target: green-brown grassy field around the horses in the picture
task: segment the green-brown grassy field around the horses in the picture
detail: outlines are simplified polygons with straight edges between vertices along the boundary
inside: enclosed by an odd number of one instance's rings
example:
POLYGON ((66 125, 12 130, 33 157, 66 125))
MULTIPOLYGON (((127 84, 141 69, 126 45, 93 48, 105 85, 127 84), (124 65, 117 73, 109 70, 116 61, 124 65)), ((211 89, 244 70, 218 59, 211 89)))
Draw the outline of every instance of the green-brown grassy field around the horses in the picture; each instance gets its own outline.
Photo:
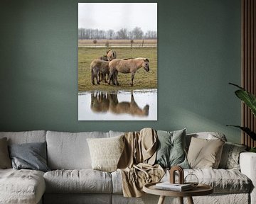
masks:
POLYGON ((139 69, 134 77, 134 86, 130 86, 131 74, 118 74, 120 86, 92 85, 90 62, 106 55, 106 47, 78 47, 78 91, 117 91, 157 88, 157 47, 114 47, 117 58, 146 57, 149 59, 149 72, 139 69))

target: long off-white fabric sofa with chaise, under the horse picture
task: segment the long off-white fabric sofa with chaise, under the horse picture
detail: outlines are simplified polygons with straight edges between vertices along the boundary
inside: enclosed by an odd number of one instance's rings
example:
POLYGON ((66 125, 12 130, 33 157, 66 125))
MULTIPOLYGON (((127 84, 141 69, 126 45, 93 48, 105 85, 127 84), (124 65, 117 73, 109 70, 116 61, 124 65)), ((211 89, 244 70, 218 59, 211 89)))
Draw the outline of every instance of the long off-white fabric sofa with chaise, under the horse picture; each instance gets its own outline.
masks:
MULTIPOLYGON (((51 171, 0 169, 0 203, 157 203, 159 196, 141 198, 122 196, 122 177, 118 171, 107 173, 91 169, 87 138, 114 137, 122 132, 0 132, 9 145, 28 142, 47 143, 51 171)), ((195 135, 195 134, 194 134, 195 135)), ((198 133, 197 137, 208 137, 198 133)), ((191 135, 187 135, 188 143, 191 135)), ((234 169, 185 169, 196 174, 201 183, 213 186, 210 196, 194 197, 194 203, 256 203, 256 154, 240 154, 240 171, 234 169)), ((162 181, 169 180, 169 171, 162 181)), ((185 203, 186 203, 186 199, 185 203)), ((166 198, 166 203, 176 198, 166 198)))

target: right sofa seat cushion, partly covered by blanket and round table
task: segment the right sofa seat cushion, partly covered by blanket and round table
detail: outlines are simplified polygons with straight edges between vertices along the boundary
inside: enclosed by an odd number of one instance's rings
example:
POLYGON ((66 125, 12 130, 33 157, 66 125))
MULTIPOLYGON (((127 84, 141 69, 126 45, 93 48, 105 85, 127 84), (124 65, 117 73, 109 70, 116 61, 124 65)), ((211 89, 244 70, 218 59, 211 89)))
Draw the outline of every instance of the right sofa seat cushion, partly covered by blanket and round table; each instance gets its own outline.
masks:
MULTIPOLYGON (((249 193, 252 188, 250 179, 235 169, 184 169, 184 176, 195 174, 199 183, 212 186, 214 193, 249 193)), ((169 181, 166 174, 161 181, 169 181)), ((176 178, 178 181, 178 178, 176 178)), ((112 172, 113 193, 122 194, 122 176, 119 171, 112 172)))

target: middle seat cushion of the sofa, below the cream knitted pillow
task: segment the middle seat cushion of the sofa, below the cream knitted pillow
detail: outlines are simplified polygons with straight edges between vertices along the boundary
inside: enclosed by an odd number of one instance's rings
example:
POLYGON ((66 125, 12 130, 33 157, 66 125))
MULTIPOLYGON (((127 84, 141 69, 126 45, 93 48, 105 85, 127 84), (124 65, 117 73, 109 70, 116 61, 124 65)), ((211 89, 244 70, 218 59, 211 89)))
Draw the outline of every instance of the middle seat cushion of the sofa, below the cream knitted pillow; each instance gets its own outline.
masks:
POLYGON ((43 177, 47 193, 112 193, 111 174, 105 171, 55 170, 43 177))

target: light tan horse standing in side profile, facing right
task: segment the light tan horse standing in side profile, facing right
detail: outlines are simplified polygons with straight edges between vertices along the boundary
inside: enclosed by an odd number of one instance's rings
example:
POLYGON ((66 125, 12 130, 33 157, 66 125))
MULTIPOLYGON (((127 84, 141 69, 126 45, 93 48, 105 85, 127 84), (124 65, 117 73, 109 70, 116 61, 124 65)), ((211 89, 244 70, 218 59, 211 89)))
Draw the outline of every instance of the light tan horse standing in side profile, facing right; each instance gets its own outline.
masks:
POLYGON ((141 67, 143 67, 146 70, 146 72, 149 72, 149 60, 147 58, 138 57, 134 59, 114 59, 110 61, 110 74, 108 84, 110 84, 110 79, 114 77, 112 79, 113 84, 116 84, 118 86, 119 82, 117 81, 117 75, 118 72, 120 72, 124 74, 132 74, 130 85, 133 86, 134 75, 137 72, 137 70, 141 67))

